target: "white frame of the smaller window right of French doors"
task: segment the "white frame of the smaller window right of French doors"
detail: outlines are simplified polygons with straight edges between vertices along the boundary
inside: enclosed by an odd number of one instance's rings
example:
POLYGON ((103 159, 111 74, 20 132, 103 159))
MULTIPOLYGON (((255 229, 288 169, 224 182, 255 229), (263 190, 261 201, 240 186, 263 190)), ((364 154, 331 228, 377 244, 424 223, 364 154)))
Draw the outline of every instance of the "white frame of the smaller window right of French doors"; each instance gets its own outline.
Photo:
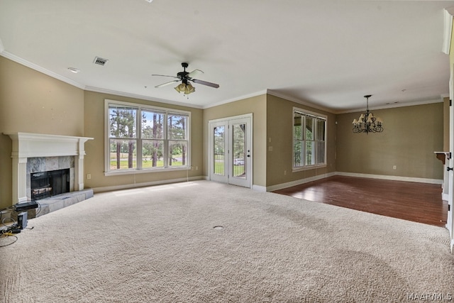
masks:
MULTIPOLYGON (((318 168, 318 167, 326 167, 326 154, 327 154, 327 148, 326 148, 326 130, 327 130, 327 126, 328 126, 328 116, 326 115, 323 115, 323 114, 319 114, 319 113, 315 113, 314 111, 308 111, 306 109, 300 109, 298 107, 293 107, 293 110, 292 110, 292 172, 299 172, 301 170, 311 170, 311 169, 314 169, 314 168, 318 168), (304 152, 304 159, 301 159, 304 161, 304 165, 302 166, 294 166, 294 163, 295 163, 295 150, 294 150, 294 142, 296 141, 295 137, 294 137, 294 118, 295 118, 295 114, 298 113, 298 114, 301 114, 301 126, 305 126, 306 125, 306 116, 311 116, 313 118, 316 119, 315 121, 315 131, 314 131, 314 157, 315 157, 315 160, 314 160, 314 164, 310 164, 310 165, 306 165, 306 153, 304 152), (317 120, 323 120, 325 121, 325 133, 324 133, 324 136, 323 138, 325 138, 324 140, 324 145, 325 145, 325 153, 324 153, 324 158, 323 158, 323 163, 317 163, 317 158, 316 158, 316 155, 317 155, 317 120)), ((305 128, 304 128, 304 131, 305 131, 305 128)), ((304 138, 303 138, 303 145, 305 146, 306 144, 306 135, 304 134, 304 138)))

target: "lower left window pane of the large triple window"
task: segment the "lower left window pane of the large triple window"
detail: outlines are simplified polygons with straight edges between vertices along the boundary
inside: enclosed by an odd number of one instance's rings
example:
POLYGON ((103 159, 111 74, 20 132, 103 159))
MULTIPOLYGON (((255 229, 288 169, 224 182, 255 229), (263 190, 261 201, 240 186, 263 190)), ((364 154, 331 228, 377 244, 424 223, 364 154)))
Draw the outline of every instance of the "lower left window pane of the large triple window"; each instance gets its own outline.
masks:
POLYGON ((129 170, 137 167, 136 141, 110 139, 109 162, 111 170, 129 170))

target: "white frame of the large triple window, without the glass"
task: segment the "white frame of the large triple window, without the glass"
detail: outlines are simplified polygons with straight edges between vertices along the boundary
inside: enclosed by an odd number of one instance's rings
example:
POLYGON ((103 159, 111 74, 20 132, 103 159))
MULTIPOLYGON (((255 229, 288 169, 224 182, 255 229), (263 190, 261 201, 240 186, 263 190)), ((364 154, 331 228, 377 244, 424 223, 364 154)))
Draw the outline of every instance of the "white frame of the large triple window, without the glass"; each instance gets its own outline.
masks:
POLYGON ((145 104, 137 104, 137 103, 131 103, 131 102, 124 102, 124 101, 116 101, 116 100, 110 100, 110 99, 104 99, 104 175, 105 176, 112 176, 112 175, 133 175, 133 174, 138 174, 138 173, 149 173, 149 172, 169 172, 169 171, 175 171, 175 170, 190 170, 191 169, 191 112, 190 111, 182 111, 178 109, 169 109, 165 107, 159 107, 159 106, 148 106, 145 104), (136 133, 137 133, 137 140, 136 143, 136 150, 137 153, 135 155, 135 160, 136 160, 136 168, 130 168, 130 169, 121 169, 121 170, 111 170, 110 169, 110 117, 109 117, 109 108, 111 106, 125 106, 125 107, 131 107, 131 109, 137 109, 138 114, 136 116, 136 133), (164 125, 163 125, 163 131, 165 133, 164 135, 164 167, 147 167, 143 168, 142 167, 142 141, 147 140, 146 138, 142 138, 142 131, 141 131, 141 123, 142 123, 142 114, 141 112, 145 111, 159 111, 163 114, 165 114, 164 117, 164 125), (170 114, 182 114, 184 116, 187 116, 187 125, 186 125, 186 131, 187 131, 187 163, 186 165, 179 165, 177 167, 172 167, 171 165, 168 165, 168 158, 167 158, 167 153, 168 153, 168 142, 169 141, 174 141, 173 139, 169 138, 167 134, 167 116, 170 114))

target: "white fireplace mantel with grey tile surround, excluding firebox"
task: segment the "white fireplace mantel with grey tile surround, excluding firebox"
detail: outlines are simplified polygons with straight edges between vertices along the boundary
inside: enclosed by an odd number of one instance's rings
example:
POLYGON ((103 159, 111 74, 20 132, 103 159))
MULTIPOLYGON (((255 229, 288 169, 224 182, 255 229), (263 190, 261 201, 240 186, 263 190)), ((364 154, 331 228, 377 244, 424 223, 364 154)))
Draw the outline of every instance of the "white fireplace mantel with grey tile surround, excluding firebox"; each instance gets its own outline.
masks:
POLYGON ((8 135, 13 141, 13 204, 31 200, 33 172, 69 168, 70 192, 83 192, 84 143, 93 138, 38 133, 8 135))

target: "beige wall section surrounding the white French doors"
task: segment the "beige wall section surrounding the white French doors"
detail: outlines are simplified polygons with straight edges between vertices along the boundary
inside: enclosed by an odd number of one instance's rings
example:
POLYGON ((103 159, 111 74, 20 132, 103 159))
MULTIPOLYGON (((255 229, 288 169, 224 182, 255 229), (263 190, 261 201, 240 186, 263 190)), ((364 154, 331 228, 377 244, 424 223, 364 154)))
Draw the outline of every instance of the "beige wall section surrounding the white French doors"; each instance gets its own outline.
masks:
POLYGON ((208 176, 208 121, 214 119, 253 114, 253 184, 266 186, 266 95, 243 99, 240 101, 214 106, 204 110, 204 175, 208 176))

